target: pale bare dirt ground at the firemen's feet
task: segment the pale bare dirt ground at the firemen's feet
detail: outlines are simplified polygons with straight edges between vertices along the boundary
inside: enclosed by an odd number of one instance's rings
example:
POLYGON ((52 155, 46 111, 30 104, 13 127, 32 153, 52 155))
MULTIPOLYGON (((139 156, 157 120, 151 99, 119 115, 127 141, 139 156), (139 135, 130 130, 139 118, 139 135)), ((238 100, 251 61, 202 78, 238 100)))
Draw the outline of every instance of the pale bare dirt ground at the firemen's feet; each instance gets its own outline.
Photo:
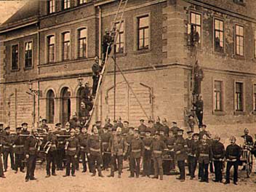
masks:
MULTIPOLYGON (((65 171, 57 171, 57 176, 45 178, 45 165, 37 165, 35 177, 38 180, 25 182, 25 174, 8 170, 5 175, 6 179, 0 179, 0 192, 142 192, 142 191, 187 191, 187 192, 229 192, 229 191, 256 191, 256 174, 252 173, 251 178, 246 178, 245 171, 239 171, 238 185, 230 184, 224 185, 222 183, 214 183, 212 179, 214 174, 210 174, 210 183, 201 183, 197 179, 189 180, 186 177, 185 182, 176 180, 176 176, 164 175, 164 180, 155 180, 145 177, 128 178, 130 172, 127 169, 123 170, 122 178, 118 179, 117 174, 115 178, 108 178, 109 171, 103 171, 104 178, 91 177, 91 173, 82 173, 82 166, 80 170, 76 171, 76 177, 63 178, 65 171)), ((239 169, 242 167, 240 166, 239 169)), ((186 168, 187 170, 187 168, 186 168)), ((255 170, 255 168, 253 168, 255 170)), ((196 171, 197 174, 197 171, 196 171)), ((196 176, 197 178, 197 176, 196 176)))

